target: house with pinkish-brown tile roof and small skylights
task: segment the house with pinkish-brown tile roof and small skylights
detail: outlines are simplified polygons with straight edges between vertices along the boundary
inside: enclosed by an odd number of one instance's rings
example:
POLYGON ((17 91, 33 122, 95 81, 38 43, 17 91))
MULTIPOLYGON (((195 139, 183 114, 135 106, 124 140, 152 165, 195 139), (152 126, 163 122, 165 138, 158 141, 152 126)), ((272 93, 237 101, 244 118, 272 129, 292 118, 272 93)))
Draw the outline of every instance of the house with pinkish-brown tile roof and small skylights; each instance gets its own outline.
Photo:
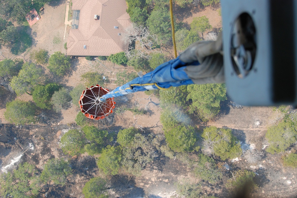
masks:
POLYGON ((131 25, 125 0, 72 0, 67 55, 109 56, 128 50, 121 34, 131 25))

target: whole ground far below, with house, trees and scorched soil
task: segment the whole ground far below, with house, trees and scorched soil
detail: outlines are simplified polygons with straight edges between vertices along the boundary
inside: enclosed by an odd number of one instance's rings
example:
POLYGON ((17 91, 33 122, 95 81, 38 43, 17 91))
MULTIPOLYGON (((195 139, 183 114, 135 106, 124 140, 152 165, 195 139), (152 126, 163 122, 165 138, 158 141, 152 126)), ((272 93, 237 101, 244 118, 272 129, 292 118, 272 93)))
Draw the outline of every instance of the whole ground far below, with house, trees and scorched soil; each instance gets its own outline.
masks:
MULTIPOLYGON (((219 0, 173 0, 178 54, 222 31, 219 0)), ((0 197, 296 197, 297 111, 241 106, 225 84, 114 98, 174 59, 169 0, 1 0, 0 197)))

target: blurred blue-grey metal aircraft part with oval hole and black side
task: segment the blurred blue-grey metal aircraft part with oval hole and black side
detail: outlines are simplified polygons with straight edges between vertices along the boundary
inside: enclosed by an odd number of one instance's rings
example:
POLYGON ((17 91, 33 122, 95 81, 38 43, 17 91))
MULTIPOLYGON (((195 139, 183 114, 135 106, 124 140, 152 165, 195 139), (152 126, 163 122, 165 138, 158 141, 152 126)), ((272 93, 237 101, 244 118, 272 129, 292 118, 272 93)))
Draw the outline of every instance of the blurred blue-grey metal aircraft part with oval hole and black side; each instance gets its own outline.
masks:
POLYGON ((248 106, 297 106, 295 0, 221 0, 227 93, 248 106))

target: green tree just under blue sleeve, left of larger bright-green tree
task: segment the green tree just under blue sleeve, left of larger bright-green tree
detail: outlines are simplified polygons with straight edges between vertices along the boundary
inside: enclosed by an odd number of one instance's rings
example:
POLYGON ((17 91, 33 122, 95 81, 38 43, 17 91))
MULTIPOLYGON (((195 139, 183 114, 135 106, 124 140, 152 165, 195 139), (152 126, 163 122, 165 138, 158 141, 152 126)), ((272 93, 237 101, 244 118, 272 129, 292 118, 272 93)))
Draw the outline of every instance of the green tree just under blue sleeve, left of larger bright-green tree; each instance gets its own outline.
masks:
POLYGON ((167 90, 160 90, 160 102, 162 106, 176 104, 178 107, 187 108, 187 86, 171 87, 167 90))

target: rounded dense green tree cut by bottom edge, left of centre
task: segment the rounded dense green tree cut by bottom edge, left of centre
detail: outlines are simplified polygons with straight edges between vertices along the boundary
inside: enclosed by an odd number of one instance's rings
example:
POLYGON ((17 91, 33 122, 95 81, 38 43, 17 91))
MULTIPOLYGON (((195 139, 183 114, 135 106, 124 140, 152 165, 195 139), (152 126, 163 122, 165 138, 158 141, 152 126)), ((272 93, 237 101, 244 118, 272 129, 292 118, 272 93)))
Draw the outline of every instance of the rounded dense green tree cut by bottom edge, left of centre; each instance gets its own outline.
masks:
POLYGON ((106 183, 104 178, 95 177, 90 179, 83 187, 83 195, 86 198, 108 198, 106 183))

